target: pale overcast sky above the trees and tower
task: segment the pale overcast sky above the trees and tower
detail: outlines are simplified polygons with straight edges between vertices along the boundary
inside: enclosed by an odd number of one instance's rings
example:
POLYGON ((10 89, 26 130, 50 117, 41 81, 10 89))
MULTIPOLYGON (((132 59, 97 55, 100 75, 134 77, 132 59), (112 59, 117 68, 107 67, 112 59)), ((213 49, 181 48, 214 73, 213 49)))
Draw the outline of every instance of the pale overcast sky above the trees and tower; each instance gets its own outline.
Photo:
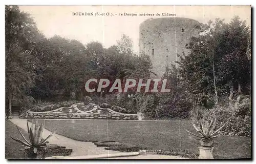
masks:
POLYGON ((176 13, 207 23, 209 19, 224 18, 229 22, 234 15, 250 25, 250 6, 19 6, 34 18, 37 27, 47 37, 76 39, 83 44, 98 41, 108 48, 116 44, 122 34, 132 38, 134 50, 139 47, 139 25, 145 19, 170 16, 118 16, 119 13, 176 13), (73 12, 113 13, 113 16, 73 16, 73 12))

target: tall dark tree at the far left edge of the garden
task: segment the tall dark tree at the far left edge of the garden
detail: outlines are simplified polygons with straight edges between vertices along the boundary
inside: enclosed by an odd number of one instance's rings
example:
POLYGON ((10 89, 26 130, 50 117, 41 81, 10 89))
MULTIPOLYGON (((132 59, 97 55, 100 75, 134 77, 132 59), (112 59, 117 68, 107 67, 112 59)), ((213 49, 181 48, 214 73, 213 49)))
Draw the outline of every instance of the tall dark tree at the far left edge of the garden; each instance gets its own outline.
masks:
POLYGON ((33 19, 18 6, 5 6, 6 101, 11 115, 12 99, 22 101, 34 86, 37 59, 33 48, 40 38, 33 19))

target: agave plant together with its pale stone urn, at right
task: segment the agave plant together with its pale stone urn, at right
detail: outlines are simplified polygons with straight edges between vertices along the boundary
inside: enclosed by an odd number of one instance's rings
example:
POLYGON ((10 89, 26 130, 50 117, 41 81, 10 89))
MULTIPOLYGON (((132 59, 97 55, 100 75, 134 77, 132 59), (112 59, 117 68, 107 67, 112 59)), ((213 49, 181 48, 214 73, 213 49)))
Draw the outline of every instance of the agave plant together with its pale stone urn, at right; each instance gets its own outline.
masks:
POLYGON ((199 126, 197 127, 194 123, 193 126, 198 132, 198 134, 194 134, 192 132, 189 132, 186 130, 188 133, 199 137, 201 147, 199 147, 199 159, 214 159, 212 155, 212 150, 214 147, 214 138, 218 137, 221 135, 224 131, 220 132, 220 130, 226 125, 223 124, 219 129, 216 130, 216 118, 215 120, 212 118, 203 118, 199 120, 199 126), (218 133, 219 132, 219 133, 218 133))

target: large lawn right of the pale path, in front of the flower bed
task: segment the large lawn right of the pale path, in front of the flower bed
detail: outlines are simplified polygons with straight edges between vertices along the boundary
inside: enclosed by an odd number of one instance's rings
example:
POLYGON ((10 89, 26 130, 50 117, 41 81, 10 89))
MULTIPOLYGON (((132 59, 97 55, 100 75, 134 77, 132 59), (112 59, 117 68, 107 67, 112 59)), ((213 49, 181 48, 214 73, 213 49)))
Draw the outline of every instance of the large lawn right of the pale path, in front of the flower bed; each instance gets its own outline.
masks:
MULTIPOLYGON (((46 128, 79 140, 114 140, 154 150, 182 149, 199 154, 199 142, 185 130, 195 132, 189 121, 46 120, 46 128)), ((250 138, 220 136, 214 145, 218 159, 250 158, 250 138)))

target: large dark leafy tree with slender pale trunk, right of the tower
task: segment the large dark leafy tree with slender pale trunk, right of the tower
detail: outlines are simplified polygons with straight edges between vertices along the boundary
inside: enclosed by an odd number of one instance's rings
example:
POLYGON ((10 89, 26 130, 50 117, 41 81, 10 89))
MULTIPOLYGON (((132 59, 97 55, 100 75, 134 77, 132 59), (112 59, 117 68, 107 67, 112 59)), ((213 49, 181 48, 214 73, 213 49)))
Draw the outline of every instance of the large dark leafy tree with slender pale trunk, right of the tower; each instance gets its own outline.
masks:
POLYGON ((215 94, 218 104, 219 95, 229 93, 232 99, 234 89, 245 92, 250 81, 249 39, 246 22, 237 16, 229 24, 221 19, 210 21, 199 37, 191 38, 190 53, 179 62, 190 93, 199 99, 215 94))

